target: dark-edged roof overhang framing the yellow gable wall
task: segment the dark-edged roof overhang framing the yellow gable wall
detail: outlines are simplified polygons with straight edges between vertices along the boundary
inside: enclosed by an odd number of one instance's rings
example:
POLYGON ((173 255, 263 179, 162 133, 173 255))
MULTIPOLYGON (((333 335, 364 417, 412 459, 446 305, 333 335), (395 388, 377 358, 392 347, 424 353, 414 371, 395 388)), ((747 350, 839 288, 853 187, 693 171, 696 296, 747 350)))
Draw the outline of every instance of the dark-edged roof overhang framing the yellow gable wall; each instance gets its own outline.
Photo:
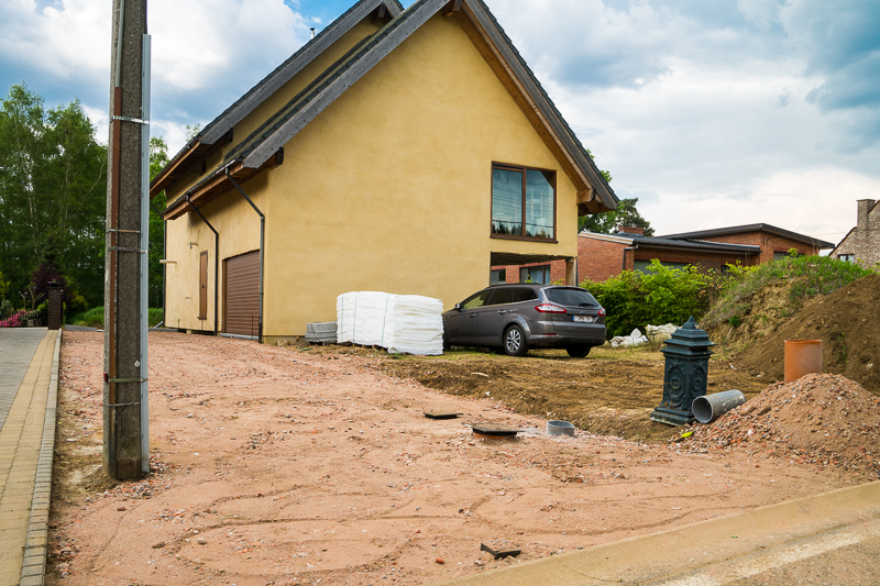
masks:
POLYGON ((168 206, 166 219, 186 212, 187 196, 198 207, 230 189, 227 173, 237 180, 245 179, 274 165, 273 161, 279 159, 279 151, 287 142, 447 5, 450 7, 447 15, 458 18, 578 187, 579 210, 595 213, 616 208, 618 200, 614 191, 485 3, 482 0, 418 0, 352 47, 232 148, 212 174, 168 206))

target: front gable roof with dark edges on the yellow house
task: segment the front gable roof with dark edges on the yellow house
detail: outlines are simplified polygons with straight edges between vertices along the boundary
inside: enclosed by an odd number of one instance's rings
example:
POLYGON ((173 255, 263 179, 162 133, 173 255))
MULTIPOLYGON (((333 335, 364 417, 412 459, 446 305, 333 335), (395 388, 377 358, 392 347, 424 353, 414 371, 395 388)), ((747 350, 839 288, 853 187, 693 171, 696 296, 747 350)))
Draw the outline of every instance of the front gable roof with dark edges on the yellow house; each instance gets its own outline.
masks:
MULTIPOLYGON (((166 212, 180 206, 187 195, 202 188, 210 188, 213 190, 212 197, 216 197, 222 190, 222 186, 219 186, 222 180, 220 175, 228 173, 233 164, 242 173, 262 168, 283 145, 447 4, 448 0, 418 0, 373 35, 362 40, 232 148, 213 173, 168 206, 166 212)), ((601 204, 593 203, 593 210, 616 208, 618 200, 614 191, 485 3, 482 0, 461 0, 454 5, 468 8, 470 18, 482 27, 487 42, 498 51, 509 74, 540 111, 543 117, 541 122, 546 122, 547 130, 557 140, 554 144, 571 158, 573 167, 584 177, 583 181, 592 186, 594 191, 591 194, 601 201, 601 204)))

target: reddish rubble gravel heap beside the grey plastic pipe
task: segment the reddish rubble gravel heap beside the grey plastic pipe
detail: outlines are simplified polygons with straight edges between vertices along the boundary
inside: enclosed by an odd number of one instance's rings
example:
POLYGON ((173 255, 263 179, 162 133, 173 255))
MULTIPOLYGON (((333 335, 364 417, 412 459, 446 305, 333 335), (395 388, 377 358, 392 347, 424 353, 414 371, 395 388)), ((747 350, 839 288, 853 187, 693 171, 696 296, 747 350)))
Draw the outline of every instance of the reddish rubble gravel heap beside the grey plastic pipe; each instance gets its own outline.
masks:
POLYGON ((717 419, 697 425, 689 447, 744 450, 880 476, 880 399, 858 383, 813 374, 778 383, 717 419))

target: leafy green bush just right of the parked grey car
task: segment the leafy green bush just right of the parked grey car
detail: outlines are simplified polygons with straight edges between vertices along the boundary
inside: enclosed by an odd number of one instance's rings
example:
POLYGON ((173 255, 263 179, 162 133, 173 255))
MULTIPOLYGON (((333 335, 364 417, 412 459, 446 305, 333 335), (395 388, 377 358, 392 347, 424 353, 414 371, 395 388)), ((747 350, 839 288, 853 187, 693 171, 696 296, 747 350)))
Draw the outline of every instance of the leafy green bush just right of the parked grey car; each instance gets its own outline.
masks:
POLYGON ((609 338, 628 335, 635 328, 644 332, 649 323, 681 325, 691 316, 700 318, 717 298, 724 280, 714 270, 670 268, 659 261, 652 261, 648 270, 625 270, 604 283, 581 284, 607 311, 609 338))

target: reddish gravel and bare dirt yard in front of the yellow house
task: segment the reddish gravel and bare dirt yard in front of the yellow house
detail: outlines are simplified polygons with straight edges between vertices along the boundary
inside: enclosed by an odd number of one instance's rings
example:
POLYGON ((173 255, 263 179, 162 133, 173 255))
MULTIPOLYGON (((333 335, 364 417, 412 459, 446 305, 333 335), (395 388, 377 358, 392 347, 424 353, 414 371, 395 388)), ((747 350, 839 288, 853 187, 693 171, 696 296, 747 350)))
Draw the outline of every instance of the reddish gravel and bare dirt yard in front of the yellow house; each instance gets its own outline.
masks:
MULTIPOLYGON (((117 485, 100 471, 102 334, 64 334, 47 584, 425 584, 872 474, 660 441, 659 353, 397 360, 176 333, 150 352, 153 473, 117 485), (582 429, 551 438, 547 418, 582 429), (522 432, 479 440, 476 422, 522 432)), ((765 378, 710 369, 711 390, 765 378)))

